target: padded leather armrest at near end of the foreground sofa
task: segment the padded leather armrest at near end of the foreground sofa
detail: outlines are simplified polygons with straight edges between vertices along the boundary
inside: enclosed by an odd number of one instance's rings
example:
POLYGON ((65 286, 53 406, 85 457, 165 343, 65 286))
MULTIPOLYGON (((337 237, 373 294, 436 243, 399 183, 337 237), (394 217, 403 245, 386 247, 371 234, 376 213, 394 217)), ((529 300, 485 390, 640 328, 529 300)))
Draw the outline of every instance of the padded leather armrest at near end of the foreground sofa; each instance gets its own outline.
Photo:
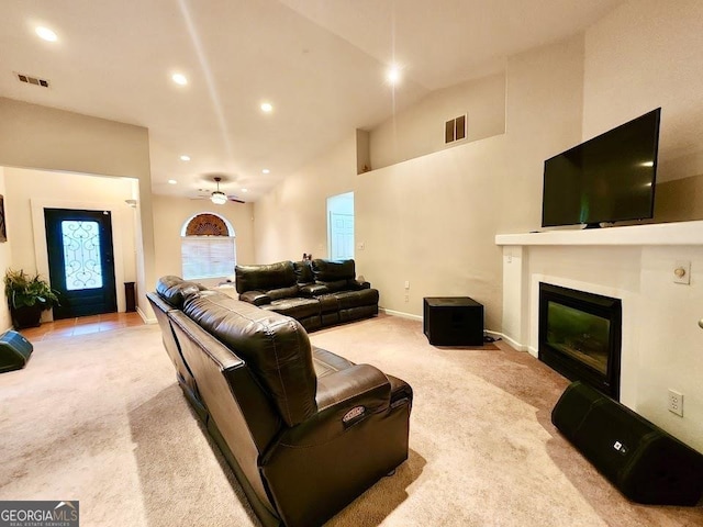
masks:
POLYGON ((321 445, 390 406, 391 383, 378 368, 355 365, 317 379, 317 413, 281 437, 284 446, 321 445))

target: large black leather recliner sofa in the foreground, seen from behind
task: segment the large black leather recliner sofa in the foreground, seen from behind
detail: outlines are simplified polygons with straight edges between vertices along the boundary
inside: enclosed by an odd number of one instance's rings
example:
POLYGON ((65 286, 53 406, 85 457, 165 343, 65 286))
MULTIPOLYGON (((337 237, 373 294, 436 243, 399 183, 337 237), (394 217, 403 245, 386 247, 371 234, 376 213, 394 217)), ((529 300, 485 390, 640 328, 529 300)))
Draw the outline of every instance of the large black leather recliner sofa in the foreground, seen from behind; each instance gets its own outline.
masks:
POLYGON ((404 381, 178 277, 147 296, 183 393, 264 525, 321 525, 408 458, 404 381))

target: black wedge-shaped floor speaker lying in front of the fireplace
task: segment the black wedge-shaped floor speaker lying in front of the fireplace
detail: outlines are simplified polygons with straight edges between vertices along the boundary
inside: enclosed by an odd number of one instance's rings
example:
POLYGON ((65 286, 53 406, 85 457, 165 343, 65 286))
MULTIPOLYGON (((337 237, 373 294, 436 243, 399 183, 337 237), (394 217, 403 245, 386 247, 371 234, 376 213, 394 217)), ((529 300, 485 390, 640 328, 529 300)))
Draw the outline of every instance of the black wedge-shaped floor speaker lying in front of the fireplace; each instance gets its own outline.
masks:
POLYGON ((701 500, 703 456, 590 385, 571 383, 551 422, 629 500, 657 505, 701 500))

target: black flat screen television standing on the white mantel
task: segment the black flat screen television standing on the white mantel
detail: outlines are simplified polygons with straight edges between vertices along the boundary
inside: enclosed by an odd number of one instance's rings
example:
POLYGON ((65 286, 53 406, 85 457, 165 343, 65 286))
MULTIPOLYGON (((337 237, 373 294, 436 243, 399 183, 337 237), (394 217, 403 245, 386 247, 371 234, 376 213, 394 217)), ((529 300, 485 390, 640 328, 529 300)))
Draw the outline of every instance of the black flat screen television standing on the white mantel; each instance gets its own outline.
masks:
POLYGON ((545 161, 542 226, 654 216, 661 109, 545 161))

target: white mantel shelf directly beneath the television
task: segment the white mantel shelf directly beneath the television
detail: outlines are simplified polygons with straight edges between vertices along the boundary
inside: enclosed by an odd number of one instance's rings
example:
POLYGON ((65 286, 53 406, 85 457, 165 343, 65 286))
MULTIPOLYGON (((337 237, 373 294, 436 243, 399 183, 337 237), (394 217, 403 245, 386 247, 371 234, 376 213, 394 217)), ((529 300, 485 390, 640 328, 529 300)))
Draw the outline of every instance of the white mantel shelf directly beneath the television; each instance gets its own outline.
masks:
POLYGON ((495 245, 702 245, 703 221, 499 234, 495 245))

